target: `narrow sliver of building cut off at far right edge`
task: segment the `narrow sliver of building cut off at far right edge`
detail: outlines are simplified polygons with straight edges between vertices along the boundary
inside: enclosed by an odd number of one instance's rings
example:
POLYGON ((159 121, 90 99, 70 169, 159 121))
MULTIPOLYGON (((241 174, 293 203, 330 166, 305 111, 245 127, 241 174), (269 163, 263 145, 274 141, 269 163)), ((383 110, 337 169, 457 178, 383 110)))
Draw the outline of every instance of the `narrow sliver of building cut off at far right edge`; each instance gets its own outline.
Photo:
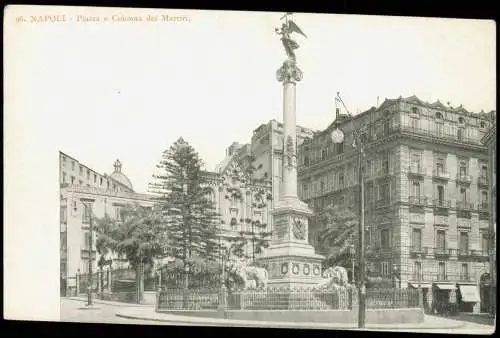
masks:
MULTIPOLYGON (((492 116, 492 121, 495 120, 495 117, 492 116)), ((488 159, 489 159, 489 171, 488 171, 488 186, 489 186, 489 209, 490 209, 490 233, 493 235, 490 238, 490 275, 489 278, 485 278, 484 281, 481 281, 485 284, 485 287, 482 288, 481 298, 490 299, 491 306, 490 310, 492 313, 495 313, 496 310, 496 282, 497 282, 497 266, 496 266, 496 230, 497 230, 497 185, 496 185, 496 146, 497 146, 497 131, 496 124, 490 128, 488 133, 481 140, 484 145, 488 147, 488 159), (488 290, 489 289, 489 290, 488 290), (484 291, 483 291, 484 290, 484 291), (488 297, 488 294, 490 297, 488 297)))

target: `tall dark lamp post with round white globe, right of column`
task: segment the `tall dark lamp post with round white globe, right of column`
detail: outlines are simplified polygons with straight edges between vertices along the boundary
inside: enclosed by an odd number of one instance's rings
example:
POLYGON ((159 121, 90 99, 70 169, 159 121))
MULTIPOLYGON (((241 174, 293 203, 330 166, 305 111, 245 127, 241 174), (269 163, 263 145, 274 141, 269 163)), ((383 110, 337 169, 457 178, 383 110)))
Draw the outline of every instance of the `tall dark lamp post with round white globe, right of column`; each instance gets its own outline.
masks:
MULTIPOLYGON (((363 156, 364 145, 359 131, 353 129, 354 144, 353 146, 358 150, 358 180, 359 180, 359 313, 358 313, 358 327, 365 327, 365 192, 364 192, 364 175, 363 175, 363 156)), ((344 142, 344 132, 337 127, 331 134, 333 143, 340 144, 344 142)))

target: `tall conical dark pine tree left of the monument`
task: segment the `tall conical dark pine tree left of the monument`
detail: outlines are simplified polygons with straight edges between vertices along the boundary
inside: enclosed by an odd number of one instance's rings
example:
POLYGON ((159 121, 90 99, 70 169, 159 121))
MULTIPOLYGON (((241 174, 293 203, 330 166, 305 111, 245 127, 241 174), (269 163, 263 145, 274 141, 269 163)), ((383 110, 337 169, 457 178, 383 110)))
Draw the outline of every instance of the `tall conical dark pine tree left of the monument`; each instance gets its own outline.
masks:
POLYGON ((179 138, 163 152, 157 165, 161 173, 150 185, 158 196, 157 207, 166 215, 170 255, 188 267, 195 257, 217 257, 218 215, 202 166, 194 148, 179 138))

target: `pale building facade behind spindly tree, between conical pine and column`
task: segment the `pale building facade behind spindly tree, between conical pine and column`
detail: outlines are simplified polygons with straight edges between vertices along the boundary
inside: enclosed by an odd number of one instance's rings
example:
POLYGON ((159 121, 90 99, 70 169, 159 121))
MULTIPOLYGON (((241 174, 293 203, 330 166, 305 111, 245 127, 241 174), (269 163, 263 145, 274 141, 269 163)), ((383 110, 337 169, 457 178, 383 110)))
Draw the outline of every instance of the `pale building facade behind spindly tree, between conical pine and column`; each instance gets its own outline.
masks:
POLYGON ((247 148, 233 143, 215 172, 205 174, 212 188, 211 199, 220 215, 221 244, 229 247, 235 239, 244 238, 245 254, 258 257, 257 241, 271 240, 270 235, 262 236, 271 232, 271 184, 254 182, 248 177, 242 161, 248 154, 247 148))

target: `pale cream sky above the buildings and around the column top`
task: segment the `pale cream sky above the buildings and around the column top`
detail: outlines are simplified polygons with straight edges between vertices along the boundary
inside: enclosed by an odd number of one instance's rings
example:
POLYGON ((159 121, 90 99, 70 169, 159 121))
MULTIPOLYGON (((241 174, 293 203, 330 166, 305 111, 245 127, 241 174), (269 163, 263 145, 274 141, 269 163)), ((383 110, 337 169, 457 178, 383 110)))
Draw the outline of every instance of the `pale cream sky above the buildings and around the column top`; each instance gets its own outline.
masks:
MULTIPOLYGON (((249 143, 260 124, 282 120, 275 73, 285 52, 274 32, 282 13, 77 14, 101 21, 19 29, 12 73, 22 108, 11 113, 21 139, 40 135, 37 143, 50 142, 100 173, 111 173, 119 158, 135 190, 147 192, 162 152, 179 137, 212 170, 232 142, 249 143), (188 21, 102 22, 148 14, 188 21)), ((492 21, 304 13, 293 20, 307 35, 296 36, 301 126, 326 128, 336 92, 353 114, 400 95, 496 110, 492 21)))

